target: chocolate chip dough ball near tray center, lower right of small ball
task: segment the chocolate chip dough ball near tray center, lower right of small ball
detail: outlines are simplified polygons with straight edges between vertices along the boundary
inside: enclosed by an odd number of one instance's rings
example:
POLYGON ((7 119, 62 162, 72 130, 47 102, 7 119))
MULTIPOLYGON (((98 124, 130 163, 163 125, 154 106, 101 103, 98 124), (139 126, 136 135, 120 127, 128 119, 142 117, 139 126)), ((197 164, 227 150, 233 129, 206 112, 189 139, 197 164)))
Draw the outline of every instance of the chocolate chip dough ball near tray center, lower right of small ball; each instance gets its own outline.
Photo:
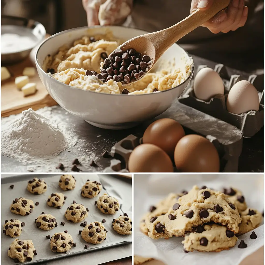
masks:
POLYGON ((67 208, 64 213, 66 219, 73 223, 82 222, 88 215, 88 208, 83 204, 78 204, 75 201, 67 208))

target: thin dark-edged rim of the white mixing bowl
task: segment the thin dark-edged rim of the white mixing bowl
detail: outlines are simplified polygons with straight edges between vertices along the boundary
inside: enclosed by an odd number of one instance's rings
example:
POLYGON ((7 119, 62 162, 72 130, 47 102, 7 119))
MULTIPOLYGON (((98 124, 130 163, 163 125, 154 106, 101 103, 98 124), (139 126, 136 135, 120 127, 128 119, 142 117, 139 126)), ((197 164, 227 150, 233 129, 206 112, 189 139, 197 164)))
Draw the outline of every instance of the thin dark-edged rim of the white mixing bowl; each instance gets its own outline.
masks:
MULTIPOLYGON (((74 88, 73 86, 70 86, 70 85, 67 85, 67 84, 64 84, 64 83, 62 83, 62 82, 59 82, 58 80, 56 80, 56 79, 54 79, 53 77, 51 77, 50 75, 48 75, 43 69, 42 69, 42 66, 40 65, 40 63, 39 63, 39 61, 38 61, 38 59, 37 59, 37 57, 38 57, 38 52, 39 52, 39 50, 41 49, 41 46, 46 42, 46 41, 48 41, 48 40, 50 40, 50 39, 52 39, 52 38, 55 38, 55 37, 57 37, 57 36, 59 36, 59 35, 61 35, 61 34, 64 34, 64 33, 68 33, 68 32, 72 32, 72 31, 75 31, 75 30, 81 30, 81 29, 93 29, 93 28, 111 28, 111 27, 118 27, 118 28, 127 28, 127 29, 137 29, 137 30, 142 30, 142 31, 144 31, 144 32, 146 32, 146 33, 148 33, 148 31, 146 31, 146 30, 143 30, 143 29, 139 29, 139 28, 131 28, 131 27, 126 27, 126 26, 119 26, 119 25, 108 25, 108 26, 100 26, 100 25, 95 25, 95 26, 91 26, 91 27, 86 27, 86 26, 84 26, 84 27, 77 27, 77 28, 72 28, 72 29, 67 29, 67 30, 63 30, 63 31, 61 31, 61 32, 58 32, 58 33, 55 33, 54 35, 52 35, 52 36, 50 36, 50 37, 48 37, 47 39, 45 39, 39 46, 38 46, 38 48, 37 48, 37 51, 36 51, 36 53, 35 53, 35 64, 36 64, 36 66, 37 66, 37 68, 39 68, 47 77, 49 77, 49 78, 51 78, 53 81, 56 81, 57 83, 59 83, 59 84, 63 84, 63 85, 65 85, 65 86, 67 86, 67 87, 69 87, 70 89, 74 89, 74 90, 76 90, 77 88, 74 88)), ((174 43, 174 44, 176 44, 176 45, 178 45, 177 43, 174 43)), ((173 44, 173 45, 174 45, 173 44)), ((187 56, 188 56, 188 58, 192 58, 189 54, 188 54, 188 52, 186 51, 186 50, 184 50, 184 48, 183 47, 181 47, 180 45, 178 45, 186 54, 187 54, 187 56)), ((135 95, 130 95, 130 96, 144 96, 144 95, 157 95, 157 94, 160 94, 160 93, 164 93, 164 92, 167 92, 167 91, 170 91, 170 90, 172 90, 172 89, 176 89, 177 87, 179 87, 179 86, 181 86, 181 85, 183 85, 184 83, 186 83, 186 82, 188 82, 188 80, 190 79, 190 77, 193 75, 193 72, 194 72, 194 62, 192 63, 192 65, 191 65, 191 74, 187 77, 187 79, 184 81, 184 82, 182 82, 182 83, 180 83, 178 86, 175 86, 175 87, 172 87, 172 88, 170 88, 170 89, 167 89, 167 90, 163 90, 163 91, 160 91, 160 92, 154 92, 154 93, 145 93, 145 94, 135 94, 135 95)), ((90 91, 90 90, 83 90, 83 89, 79 89, 79 90, 81 90, 81 91, 84 91, 85 93, 87 93, 87 92, 90 92, 90 93, 96 93, 96 94, 103 94, 103 95, 109 95, 109 96, 128 96, 128 94, 108 94, 108 93, 99 93, 99 92, 95 92, 95 91, 90 91)))

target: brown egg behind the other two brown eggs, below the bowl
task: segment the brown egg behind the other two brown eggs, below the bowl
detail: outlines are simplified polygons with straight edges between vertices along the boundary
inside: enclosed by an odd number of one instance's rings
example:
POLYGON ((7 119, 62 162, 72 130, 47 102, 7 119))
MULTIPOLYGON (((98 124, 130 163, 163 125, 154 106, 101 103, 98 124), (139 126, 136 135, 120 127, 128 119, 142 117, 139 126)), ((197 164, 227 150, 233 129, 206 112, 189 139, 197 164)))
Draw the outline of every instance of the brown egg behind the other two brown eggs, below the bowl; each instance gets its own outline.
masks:
POLYGON ((180 123, 165 118, 154 121, 147 127, 143 143, 157 145, 173 158, 176 144, 183 136, 185 132, 180 123))

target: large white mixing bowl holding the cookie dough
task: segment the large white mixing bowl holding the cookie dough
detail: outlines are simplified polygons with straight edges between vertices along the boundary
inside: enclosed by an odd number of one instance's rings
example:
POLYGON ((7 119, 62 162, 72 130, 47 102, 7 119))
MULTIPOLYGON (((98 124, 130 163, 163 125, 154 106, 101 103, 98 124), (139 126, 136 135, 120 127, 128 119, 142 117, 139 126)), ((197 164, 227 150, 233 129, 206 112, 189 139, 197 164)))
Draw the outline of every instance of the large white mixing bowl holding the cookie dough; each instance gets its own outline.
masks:
POLYGON ((156 64, 156 69, 163 68, 161 61, 173 61, 180 69, 185 68, 185 58, 192 64, 191 75, 179 86, 159 93, 143 95, 104 94, 73 88, 60 83, 42 70, 42 64, 48 54, 54 55, 60 46, 72 44, 84 35, 93 36, 104 34, 110 29, 113 35, 127 40, 147 32, 139 29, 119 26, 76 28, 57 33, 42 42, 36 52, 36 66, 43 85, 52 98, 66 111, 78 116, 88 123, 104 129, 125 129, 137 125, 139 122, 158 116, 166 111, 176 98, 187 87, 193 74, 193 61, 187 52, 179 45, 174 44, 156 64))

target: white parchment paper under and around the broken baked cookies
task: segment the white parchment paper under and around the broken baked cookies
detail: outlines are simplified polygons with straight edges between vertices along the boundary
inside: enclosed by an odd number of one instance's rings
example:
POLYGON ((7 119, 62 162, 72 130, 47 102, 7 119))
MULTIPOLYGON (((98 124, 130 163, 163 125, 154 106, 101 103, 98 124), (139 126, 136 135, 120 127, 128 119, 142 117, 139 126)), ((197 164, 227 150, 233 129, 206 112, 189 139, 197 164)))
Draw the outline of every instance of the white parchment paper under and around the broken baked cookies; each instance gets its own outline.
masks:
POLYGON ((140 220, 150 205, 170 192, 189 191, 193 185, 206 185, 217 190, 238 188, 249 207, 263 211, 263 175, 134 175, 134 255, 155 258, 168 265, 237 265, 263 246, 263 221, 254 229, 257 239, 250 239, 252 232, 248 232, 238 237, 235 247, 219 253, 184 253, 182 237, 153 240, 140 232, 140 220), (237 248, 241 239, 248 245, 247 248, 237 248))

